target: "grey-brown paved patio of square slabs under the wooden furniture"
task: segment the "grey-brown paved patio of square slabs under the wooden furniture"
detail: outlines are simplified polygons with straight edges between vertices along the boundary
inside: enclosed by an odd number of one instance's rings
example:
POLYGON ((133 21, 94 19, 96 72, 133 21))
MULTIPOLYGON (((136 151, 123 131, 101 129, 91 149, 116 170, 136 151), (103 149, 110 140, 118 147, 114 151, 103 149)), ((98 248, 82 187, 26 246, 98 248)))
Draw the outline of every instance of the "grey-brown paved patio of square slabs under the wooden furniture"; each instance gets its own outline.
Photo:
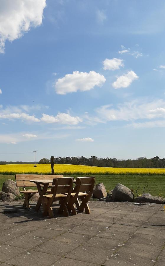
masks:
MULTIPOLYGON (((165 265, 161 204, 89 202, 91 214, 45 218, 22 202, 0 214, 0 265, 165 265), (16 212, 17 211, 17 212, 16 212)), ((53 209, 56 211, 57 205, 53 209)))

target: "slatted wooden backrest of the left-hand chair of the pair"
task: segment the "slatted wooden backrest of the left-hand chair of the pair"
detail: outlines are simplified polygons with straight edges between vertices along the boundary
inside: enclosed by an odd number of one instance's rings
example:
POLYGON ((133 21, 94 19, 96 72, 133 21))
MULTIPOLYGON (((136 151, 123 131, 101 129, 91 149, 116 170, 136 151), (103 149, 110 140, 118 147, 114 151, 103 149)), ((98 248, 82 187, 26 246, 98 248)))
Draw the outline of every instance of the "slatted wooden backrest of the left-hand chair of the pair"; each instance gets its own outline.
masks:
POLYGON ((68 197, 70 197, 73 189, 73 177, 55 178, 52 185, 54 186, 52 188, 53 197, 59 193, 68 193, 68 197))

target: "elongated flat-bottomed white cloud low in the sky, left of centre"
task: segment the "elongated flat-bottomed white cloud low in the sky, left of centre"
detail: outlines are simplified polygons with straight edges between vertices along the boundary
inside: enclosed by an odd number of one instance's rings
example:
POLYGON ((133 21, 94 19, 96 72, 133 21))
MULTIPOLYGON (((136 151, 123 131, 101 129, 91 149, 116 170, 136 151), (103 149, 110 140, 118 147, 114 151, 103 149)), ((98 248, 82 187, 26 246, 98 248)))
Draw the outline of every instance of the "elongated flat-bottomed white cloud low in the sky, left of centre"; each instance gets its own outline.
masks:
POLYGON ((82 122, 82 119, 78 116, 71 116, 68 113, 58 113, 56 116, 50 116, 45 113, 42 114, 43 117, 41 121, 45 123, 60 123, 68 125, 77 125, 79 122, 82 122))

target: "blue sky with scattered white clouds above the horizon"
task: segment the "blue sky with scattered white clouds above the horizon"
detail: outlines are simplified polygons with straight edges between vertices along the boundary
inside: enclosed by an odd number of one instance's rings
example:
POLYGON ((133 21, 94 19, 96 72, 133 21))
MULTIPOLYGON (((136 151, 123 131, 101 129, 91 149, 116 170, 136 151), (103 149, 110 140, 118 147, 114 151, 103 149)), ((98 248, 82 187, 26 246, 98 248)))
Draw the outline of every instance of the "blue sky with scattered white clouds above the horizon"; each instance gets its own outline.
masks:
POLYGON ((164 157, 165 3, 0 1, 0 160, 164 157))

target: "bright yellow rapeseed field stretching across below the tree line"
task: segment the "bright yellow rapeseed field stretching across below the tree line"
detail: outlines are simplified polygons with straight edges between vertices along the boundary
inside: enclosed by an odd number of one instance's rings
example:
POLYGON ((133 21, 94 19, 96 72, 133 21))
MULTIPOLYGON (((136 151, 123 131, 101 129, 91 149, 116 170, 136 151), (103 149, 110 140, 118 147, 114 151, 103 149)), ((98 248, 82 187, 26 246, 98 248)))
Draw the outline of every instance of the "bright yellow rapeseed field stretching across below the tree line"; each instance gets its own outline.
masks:
MULTIPOLYGON (((0 174, 51 174, 50 164, 6 164, 0 165, 0 174)), ((160 168, 113 168, 83 166, 71 164, 55 164, 55 174, 64 175, 165 175, 160 168)))

